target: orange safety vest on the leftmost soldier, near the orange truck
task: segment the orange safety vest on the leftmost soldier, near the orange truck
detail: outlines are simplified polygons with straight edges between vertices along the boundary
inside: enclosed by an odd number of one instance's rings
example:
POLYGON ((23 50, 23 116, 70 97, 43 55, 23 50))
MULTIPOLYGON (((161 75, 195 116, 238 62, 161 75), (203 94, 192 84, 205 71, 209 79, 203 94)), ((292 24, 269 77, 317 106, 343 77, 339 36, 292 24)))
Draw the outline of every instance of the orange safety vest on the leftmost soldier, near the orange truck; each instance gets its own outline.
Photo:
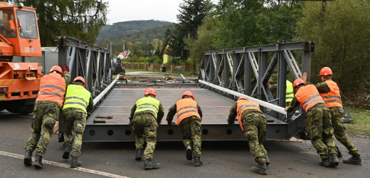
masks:
POLYGON ((41 100, 54 101, 63 106, 65 80, 58 73, 49 73, 40 80, 40 91, 36 102, 41 100))

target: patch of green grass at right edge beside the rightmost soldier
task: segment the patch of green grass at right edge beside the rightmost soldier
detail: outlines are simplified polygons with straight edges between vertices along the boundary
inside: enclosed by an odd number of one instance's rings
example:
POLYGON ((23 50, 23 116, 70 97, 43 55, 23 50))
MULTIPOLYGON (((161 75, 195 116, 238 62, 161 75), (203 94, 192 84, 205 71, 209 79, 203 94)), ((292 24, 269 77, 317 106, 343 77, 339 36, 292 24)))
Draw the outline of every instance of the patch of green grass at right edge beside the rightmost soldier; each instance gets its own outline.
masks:
POLYGON ((354 122, 344 124, 347 127, 347 134, 370 137, 370 110, 351 108, 351 117, 354 122))

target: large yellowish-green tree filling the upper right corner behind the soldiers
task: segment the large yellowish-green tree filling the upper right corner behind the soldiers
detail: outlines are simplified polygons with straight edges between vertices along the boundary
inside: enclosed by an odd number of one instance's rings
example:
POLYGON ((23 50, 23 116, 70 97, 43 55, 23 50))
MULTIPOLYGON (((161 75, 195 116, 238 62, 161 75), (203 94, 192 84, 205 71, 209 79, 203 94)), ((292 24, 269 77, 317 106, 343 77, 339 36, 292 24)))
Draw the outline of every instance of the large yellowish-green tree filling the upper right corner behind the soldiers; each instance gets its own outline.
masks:
MULTIPOLYGON (((321 81, 319 70, 332 68, 342 94, 356 98, 370 88, 370 6, 368 1, 328 1, 324 23, 317 19, 321 3, 305 3, 304 16, 297 26, 297 40, 315 41, 312 81, 321 81)), ((356 98, 357 100, 358 98, 356 98)), ((361 107, 369 108, 369 103, 361 107)))

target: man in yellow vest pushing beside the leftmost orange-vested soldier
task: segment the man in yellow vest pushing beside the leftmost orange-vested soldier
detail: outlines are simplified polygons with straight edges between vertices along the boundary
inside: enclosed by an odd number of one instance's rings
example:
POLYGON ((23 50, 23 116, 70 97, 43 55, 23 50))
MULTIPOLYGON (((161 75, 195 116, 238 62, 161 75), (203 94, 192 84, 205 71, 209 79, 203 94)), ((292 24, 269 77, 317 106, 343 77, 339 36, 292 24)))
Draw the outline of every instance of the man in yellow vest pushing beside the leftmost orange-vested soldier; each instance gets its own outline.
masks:
POLYGON ((91 93, 85 89, 85 79, 76 77, 72 85, 68 85, 63 105, 62 118, 64 130, 63 159, 72 157, 70 167, 80 167, 80 150, 83 145, 83 130, 85 130, 86 116, 93 112, 94 102, 91 93))

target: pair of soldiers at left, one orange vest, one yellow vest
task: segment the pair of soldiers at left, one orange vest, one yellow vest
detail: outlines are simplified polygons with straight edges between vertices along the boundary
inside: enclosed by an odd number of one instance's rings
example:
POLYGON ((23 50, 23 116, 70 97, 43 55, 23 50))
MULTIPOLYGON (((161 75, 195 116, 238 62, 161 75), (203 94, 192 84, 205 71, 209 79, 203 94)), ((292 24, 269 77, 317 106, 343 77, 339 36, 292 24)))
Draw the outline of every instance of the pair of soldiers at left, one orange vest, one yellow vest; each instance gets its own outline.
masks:
POLYGON ((70 83, 68 66, 53 66, 48 75, 40 80, 40 91, 36 98, 33 110, 31 137, 25 147, 23 164, 32 164, 32 154, 36 150, 33 166, 43 168, 43 155, 45 155, 51 140, 56 121, 63 118, 64 147, 63 159, 72 157, 70 167, 80 167, 80 150, 82 145, 83 130, 85 130, 86 116, 94 108, 91 93, 85 89, 85 79, 76 77, 70 83), (68 86, 68 88, 67 88, 68 86), (67 90, 66 90, 67 88, 67 90))

